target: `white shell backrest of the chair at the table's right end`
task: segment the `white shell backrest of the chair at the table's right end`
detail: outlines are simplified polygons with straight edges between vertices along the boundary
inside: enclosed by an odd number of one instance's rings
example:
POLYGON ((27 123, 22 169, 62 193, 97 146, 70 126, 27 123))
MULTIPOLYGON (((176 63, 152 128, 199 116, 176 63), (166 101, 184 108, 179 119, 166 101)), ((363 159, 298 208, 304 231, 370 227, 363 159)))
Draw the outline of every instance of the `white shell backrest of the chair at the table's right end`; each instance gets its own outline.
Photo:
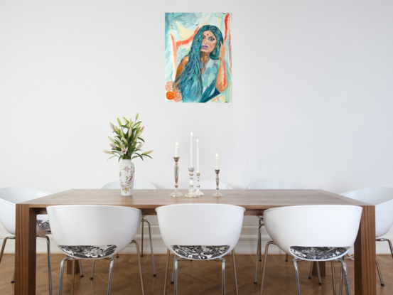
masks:
POLYGON ((375 237, 382 237, 390 230, 393 225, 393 188, 362 188, 341 195, 375 205, 375 237))

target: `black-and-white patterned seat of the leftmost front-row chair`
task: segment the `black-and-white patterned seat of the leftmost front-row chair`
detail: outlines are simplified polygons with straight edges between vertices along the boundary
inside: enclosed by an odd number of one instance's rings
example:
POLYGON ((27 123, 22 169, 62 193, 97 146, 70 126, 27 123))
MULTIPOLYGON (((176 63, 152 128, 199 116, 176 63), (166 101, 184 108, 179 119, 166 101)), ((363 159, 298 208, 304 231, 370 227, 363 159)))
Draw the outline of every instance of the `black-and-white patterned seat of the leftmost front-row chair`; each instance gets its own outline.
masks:
POLYGON ((111 256, 116 251, 115 245, 107 246, 61 246, 60 250, 72 257, 79 258, 104 258, 111 256))

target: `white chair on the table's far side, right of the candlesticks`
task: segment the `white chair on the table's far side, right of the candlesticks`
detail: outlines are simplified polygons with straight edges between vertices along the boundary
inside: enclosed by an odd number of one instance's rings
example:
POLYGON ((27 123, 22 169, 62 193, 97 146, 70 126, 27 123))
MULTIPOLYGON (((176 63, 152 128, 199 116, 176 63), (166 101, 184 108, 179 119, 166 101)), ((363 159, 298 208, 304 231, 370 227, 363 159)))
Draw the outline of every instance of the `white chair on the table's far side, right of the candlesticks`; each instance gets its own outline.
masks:
MULTIPOLYGON (((249 190, 298 190, 303 189, 303 187, 298 186, 297 184, 286 182, 286 181, 257 181, 252 183, 249 186, 249 190)), ((258 227, 258 242, 257 242, 257 258, 255 259, 255 278, 254 284, 257 284, 257 276, 258 276, 258 260, 262 262, 262 227, 264 226, 264 217, 258 216, 259 218, 259 227, 258 227), (258 259, 259 258, 259 259, 258 259)), ((286 254, 285 261, 288 262, 288 254, 286 254)), ((319 284, 321 283, 321 275, 318 270, 318 279, 319 284)), ((311 275, 309 277, 311 279, 311 275)))

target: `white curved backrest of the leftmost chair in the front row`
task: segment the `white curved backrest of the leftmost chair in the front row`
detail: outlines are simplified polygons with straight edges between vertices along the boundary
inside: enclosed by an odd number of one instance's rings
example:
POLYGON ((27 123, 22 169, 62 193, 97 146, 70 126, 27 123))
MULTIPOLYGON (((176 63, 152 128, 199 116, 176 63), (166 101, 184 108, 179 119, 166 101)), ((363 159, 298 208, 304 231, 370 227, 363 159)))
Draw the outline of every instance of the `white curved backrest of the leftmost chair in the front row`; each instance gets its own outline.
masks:
POLYGON ((50 229, 57 245, 115 245, 124 250, 141 225, 141 210, 107 205, 49 206, 50 229))

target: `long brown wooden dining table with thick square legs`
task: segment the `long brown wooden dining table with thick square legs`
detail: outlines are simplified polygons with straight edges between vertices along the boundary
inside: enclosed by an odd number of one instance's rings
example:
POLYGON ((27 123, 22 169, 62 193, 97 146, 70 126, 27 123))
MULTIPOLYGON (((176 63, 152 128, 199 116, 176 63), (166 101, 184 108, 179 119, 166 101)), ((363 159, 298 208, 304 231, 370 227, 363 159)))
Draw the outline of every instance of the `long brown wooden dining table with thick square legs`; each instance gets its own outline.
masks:
MULTIPOLYGON (((363 210, 355 241, 355 294, 376 294, 374 205, 322 190, 220 190, 223 195, 220 198, 212 196, 213 190, 203 191, 205 195, 200 198, 173 198, 169 196, 172 192, 134 190, 132 196, 122 196, 120 190, 74 189, 16 204, 15 294, 36 294, 36 215, 45 214, 48 206, 119 205, 138 208, 143 215, 156 215, 155 209, 160 206, 185 203, 239 205, 246 209, 244 215, 255 216, 269 208, 284 206, 358 205, 363 210)), ((345 230, 345 224, 333 230, 345 230)), ((253 278, 249 281, 252 284, 253 278)))

